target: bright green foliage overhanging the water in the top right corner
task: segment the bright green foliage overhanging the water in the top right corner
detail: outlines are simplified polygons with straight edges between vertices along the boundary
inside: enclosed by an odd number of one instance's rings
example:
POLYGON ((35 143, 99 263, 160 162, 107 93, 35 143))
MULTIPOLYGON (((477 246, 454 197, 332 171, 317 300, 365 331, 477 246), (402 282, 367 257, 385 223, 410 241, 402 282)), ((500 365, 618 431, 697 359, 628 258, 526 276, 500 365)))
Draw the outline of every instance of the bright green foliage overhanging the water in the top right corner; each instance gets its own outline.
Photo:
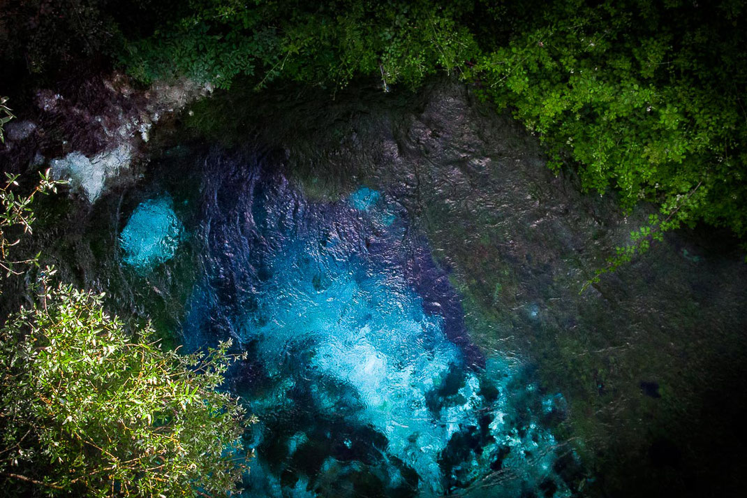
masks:
POLYGON ((624 209, 660 205, 663 221, 633 233, 613 267, 681 224, 747 233, 746 25, 741 4, 713 9, 552 2, 472 70, 548 145, 552 167, 571 159, 584 188, 614 188, 624 209))

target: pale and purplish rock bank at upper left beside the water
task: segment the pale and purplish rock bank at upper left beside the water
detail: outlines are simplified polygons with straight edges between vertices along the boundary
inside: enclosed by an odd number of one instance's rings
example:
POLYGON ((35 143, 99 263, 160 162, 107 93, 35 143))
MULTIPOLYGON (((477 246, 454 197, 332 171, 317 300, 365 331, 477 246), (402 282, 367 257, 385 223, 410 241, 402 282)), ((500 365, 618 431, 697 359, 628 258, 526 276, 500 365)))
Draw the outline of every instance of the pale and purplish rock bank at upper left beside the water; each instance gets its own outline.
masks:
POLYGON ((125 173, 142 157, 154 123, 211 91, 209 84, 187 79, 135 90, 119 73, 39 90, 34 121, 9 123, 0 162, 12 170, 54 158, 52 176, 69 180, 71 192, 94 203, 108 185, 132 176, 125 173))

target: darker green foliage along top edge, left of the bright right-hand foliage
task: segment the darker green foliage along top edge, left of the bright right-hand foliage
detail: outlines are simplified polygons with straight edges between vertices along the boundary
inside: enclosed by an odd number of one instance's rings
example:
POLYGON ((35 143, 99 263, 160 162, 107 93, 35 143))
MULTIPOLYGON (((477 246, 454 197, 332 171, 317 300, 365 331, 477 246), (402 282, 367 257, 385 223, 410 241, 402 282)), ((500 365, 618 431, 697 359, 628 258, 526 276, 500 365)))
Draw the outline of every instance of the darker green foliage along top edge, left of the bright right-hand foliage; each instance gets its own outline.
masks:
POLYGON ((228 87, 283 77, 339 87, 354 76, 415 85, 459 70, 477 51, 454 16, 469 2, 190 0, 188 15, 131 43, 123 58, 143 82, 187 75, 228 87))

